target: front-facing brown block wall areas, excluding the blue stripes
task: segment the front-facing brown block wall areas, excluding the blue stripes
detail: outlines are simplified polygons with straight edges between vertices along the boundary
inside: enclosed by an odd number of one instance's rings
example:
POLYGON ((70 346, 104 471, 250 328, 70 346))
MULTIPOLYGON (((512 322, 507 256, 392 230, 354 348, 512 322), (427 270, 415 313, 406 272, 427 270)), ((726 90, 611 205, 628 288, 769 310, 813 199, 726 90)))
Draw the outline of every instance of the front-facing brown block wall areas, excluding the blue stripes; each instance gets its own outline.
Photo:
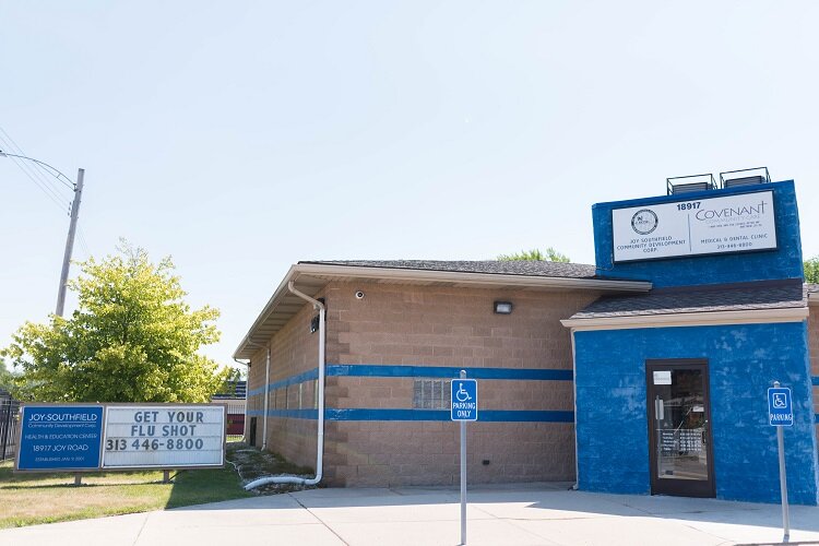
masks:
MULTIPOLYGON (((334 283, 328 361, 571 369, 571 339, 559 320, 593 301, 589 293, 543 293, 334 283), (355 293, 363 290, 364 299, 355 293), (514 304, 492 313, 495 300, 514 304)), ((328 406, 411 408, 414 378, 331 377, 328 406)), ((571 381, 482 380, 485 410, 573 410, 571 381)), ((448 397, 448 395, 447 395, 448 397)), ((573 424, 475 423, 474 483, 573 479, 573 424), (488 464, 483 464, 488 461, 488 464)), ((459 479, 458 424, 335 422, 325 429, 325 478, 336 486, 452 485, 459 479)))

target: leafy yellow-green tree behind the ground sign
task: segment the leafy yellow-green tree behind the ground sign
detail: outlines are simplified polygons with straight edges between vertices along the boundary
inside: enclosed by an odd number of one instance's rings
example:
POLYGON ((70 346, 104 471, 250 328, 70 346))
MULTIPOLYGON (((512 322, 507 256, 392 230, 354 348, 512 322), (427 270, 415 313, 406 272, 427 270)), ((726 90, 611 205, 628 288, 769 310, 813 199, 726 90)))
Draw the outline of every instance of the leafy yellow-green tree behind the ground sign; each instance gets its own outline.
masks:
POLYGON ((26 322, 0 352, 21 369, 19 396, 40 402, 206 402, 227 378, 197 354, 218 341, 218 310, 191 310, 170 258, 122 244, 82 262, 71 318, 26 322), (25 389, 22 389, 25 387, 25 389), (22 392, 20 392, 22 391, 22 392))

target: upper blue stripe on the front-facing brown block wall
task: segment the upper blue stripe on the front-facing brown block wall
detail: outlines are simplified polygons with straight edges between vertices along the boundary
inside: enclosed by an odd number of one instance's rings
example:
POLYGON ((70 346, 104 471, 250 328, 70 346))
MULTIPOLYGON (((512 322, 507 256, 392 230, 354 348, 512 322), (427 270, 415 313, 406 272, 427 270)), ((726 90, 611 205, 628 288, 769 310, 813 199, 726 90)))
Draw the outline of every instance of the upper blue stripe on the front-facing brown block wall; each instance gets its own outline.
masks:
POLYGON ((451 366, 375 366, 375 365, 332 365, 328 366, 328 376, 349 377, 434 377, 452 378, 466 370, 470 379, 512 379, 537 381, 571 381, 571 370, 557 369, 515 369, 515 368, 456 368, 451 366))

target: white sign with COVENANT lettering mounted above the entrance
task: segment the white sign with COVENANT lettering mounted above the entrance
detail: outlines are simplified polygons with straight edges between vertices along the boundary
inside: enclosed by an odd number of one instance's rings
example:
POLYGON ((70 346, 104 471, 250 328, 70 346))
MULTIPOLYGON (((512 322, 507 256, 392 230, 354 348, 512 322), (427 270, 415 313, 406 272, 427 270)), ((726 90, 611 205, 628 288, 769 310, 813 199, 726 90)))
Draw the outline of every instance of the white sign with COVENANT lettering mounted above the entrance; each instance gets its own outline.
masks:
POLYGON ((776 248, 772 191, 615 209, 612 224, 615 263, 776 248))

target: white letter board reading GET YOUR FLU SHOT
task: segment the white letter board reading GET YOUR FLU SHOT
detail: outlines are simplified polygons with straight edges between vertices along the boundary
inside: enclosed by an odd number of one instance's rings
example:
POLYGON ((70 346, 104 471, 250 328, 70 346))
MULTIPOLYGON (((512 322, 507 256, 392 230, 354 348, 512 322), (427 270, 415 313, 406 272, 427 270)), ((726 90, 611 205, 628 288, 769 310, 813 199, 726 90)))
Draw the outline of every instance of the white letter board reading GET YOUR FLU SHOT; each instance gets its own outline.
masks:
POLYGON ((224 439, 224 405, 108 406, 102 466, 223 466, 224 439))

